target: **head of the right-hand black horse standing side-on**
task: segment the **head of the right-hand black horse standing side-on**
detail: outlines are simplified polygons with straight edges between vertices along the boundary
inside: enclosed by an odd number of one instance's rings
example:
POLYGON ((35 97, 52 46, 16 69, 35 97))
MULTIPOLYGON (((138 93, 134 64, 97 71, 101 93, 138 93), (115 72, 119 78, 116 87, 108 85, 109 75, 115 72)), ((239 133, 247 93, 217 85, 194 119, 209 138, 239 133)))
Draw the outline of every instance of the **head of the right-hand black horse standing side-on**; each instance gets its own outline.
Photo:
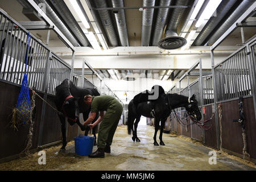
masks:
POLYGON ((199 110, 195 94, 193 94, 192 97, 188 97, 188 102, 185 104, 184 107, 187 110, 188 115, 190 115, 196 121, 200 121, 202 115, 199 110))

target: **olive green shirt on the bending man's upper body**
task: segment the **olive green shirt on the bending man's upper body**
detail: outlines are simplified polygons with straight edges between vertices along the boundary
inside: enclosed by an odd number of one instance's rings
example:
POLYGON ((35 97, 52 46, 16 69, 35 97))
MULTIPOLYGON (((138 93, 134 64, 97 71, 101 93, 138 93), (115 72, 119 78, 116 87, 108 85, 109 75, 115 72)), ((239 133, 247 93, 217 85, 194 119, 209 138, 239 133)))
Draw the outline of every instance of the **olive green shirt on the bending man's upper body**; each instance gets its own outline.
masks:
POLYGON ((97 113, 100 111, 108 110, 109 105, 115 98, 112 96, 93 96, 92 105, 90 111, 97 113))

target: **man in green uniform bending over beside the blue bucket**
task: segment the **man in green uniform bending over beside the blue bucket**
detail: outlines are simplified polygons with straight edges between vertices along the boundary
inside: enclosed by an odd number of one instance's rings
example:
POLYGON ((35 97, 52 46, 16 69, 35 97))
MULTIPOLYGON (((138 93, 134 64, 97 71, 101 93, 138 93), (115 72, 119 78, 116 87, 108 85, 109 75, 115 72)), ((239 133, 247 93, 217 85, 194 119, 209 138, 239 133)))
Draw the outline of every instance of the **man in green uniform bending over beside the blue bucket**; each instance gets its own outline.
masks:
POLYGON ((98 149, 90 154, 89 158, 104 158, 104 151, 110 153, 110 146, 123 111, 123 106, 112 96, 87 95, 84 97, 84 102, 88 106, 91 106, 91 110, 89 118, 83 125, 89 125, 90 129, 92 129, 101 122, 100 130, 98 132, 98 149), (100 117, 98 117, 93 124, 90 124, 98 111, 100 111, 100 117), (106 111, 105 114, 104 111, 106 111))

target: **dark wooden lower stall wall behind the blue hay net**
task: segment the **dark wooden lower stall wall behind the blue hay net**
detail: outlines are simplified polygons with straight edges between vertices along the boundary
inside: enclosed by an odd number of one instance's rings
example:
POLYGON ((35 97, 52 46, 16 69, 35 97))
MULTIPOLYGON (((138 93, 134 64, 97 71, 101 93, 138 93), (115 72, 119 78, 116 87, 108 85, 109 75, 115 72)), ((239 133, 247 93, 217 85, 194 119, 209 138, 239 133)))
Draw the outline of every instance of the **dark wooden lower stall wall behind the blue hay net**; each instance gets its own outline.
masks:
MULTIPOLYGON (((13 108, 16 106, 18 96, 20 92, 20 86, 15 84, 9 84, 0 81, 0 163, 12 160, 18 157, 18 154, 24 150, 26 146, 26 139, 28 134, 28 125, 25 123, 20 126, 18 131, 15 131, 9 126, 11 121, 11 114, 13 108)), ((42 93, 38 93, 43 97, 42 93)), ((30 97, 32 96, 30 90, 30 97)), ((53 107, 53 96, 48 95, 47 102, 53 107)), ((38 137, 40 130, 40 120, 42 116, 42 104, 43 101, 36 96, 35 109, 34 109, 34 125, 32 136, 31 150, 38 147, 38 137)), ((56 112, 46 105, 46 115, 44 118, 44 127, 42 135, 42 145, 57 142, 62 140, 61 138, 61 126, 60 120, 56 112)), ((68 126, 67 139, 73 140, 77 136, 77 125, 68 126)))

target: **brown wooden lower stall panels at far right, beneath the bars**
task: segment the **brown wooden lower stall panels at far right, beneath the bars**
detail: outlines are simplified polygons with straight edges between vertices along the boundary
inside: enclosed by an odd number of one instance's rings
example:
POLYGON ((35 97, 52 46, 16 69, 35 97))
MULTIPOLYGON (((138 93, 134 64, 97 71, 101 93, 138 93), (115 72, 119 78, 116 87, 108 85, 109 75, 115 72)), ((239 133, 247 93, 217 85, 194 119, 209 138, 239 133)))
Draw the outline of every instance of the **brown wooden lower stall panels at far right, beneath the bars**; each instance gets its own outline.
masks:
MULTIPOLYGON (((232 121, 232 119, 240 118, 238 103, 238 100, 223 102, 221 104, 222 119, 220 121, 218 118, 218 122, 221 127, 222 149, 234 155, 242 156, 242 127, 239 122, 232 121)), ((250 154, 251 160, 256 162, 256 121, 253 97, 243 98, 243 111, 245 113, 247 152, 250 154)))

